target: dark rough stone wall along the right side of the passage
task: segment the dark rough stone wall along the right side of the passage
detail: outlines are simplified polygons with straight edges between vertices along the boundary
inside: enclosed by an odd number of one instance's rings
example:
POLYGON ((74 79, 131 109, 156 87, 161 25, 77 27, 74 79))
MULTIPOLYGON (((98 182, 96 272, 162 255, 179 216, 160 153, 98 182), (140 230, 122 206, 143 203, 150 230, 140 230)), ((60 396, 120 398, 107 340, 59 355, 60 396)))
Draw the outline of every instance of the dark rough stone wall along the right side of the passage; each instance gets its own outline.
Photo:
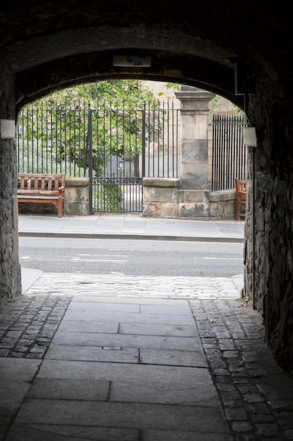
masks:
POLYGON ((255 203, 252 150, 249 154, 245 293, 263 312, 266 342, 285 371, 293 367, 292 92, 289 81, 275 82, 274 87, 258 82, 256 97, 251 97, 247 108, 256 127, 257 147, 255 203))

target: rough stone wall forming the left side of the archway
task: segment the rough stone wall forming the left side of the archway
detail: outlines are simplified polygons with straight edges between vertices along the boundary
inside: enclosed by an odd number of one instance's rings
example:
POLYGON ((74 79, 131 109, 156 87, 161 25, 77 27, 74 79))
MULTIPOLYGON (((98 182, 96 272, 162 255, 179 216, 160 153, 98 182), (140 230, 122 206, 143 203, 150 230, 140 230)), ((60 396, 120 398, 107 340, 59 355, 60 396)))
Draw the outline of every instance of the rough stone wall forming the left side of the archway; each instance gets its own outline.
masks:
POLYGON ((21 292, 14 77, 0 74, 0 305, 21 292))

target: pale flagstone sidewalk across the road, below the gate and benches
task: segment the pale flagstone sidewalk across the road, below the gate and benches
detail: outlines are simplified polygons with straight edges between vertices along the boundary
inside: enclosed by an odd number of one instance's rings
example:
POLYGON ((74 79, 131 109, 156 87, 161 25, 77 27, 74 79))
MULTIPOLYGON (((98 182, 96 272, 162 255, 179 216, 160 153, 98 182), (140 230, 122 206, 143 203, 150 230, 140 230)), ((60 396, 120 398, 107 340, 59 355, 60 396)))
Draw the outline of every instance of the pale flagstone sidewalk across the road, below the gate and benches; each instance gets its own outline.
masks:
POLYGON ((20 236, 93 237, 148 240, 189 240, 243 242, 243 221, 197 221, 189 219, 146 218, 138 214, 103 216, 20 215, 20 236))

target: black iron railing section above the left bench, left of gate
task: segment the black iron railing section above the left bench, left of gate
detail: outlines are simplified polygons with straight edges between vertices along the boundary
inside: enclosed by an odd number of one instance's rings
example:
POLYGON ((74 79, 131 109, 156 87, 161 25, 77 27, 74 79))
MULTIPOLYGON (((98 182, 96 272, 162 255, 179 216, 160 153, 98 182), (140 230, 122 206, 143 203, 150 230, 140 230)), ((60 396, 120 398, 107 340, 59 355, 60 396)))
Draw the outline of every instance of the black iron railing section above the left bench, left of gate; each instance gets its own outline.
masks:
POLYGON ((36 101, 18 117, 18 171, 88 175, 84 104, 36 101))

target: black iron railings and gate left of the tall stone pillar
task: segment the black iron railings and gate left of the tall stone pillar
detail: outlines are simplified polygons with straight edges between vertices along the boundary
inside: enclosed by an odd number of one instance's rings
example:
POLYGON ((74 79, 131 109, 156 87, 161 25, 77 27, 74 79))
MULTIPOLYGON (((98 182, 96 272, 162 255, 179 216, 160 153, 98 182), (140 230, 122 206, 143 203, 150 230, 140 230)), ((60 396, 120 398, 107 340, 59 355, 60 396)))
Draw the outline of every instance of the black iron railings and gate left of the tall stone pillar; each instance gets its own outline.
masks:
POLYGON ((92 211, 142 211, 142 178, 179 174, 174 101, 37 101, 18 118, 18 170, 88 176, 92 211))

